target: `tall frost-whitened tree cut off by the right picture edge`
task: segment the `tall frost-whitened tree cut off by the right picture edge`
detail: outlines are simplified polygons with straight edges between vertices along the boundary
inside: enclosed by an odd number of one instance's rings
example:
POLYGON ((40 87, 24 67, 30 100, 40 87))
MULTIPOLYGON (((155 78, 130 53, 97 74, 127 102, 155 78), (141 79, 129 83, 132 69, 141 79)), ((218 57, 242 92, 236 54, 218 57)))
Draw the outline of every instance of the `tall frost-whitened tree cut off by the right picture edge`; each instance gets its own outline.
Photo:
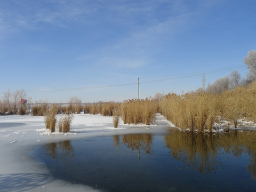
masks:
POLYGON ((252 82, 256 79, 256 50, 248 52, 248 55, 244 58, 244 63, 249 70, 247 78, 252 82))

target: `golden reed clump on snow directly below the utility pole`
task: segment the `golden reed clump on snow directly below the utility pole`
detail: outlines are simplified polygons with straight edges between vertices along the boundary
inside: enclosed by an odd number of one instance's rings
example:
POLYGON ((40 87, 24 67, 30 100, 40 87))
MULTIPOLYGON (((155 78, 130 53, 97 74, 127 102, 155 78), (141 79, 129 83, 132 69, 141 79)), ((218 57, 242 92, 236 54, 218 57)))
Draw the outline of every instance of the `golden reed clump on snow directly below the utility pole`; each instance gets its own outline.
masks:
POLYGON ((149 125, 157 113, 157 102, 146 99, 126 100, 122 104, 122 119, 124 123, 149 125))

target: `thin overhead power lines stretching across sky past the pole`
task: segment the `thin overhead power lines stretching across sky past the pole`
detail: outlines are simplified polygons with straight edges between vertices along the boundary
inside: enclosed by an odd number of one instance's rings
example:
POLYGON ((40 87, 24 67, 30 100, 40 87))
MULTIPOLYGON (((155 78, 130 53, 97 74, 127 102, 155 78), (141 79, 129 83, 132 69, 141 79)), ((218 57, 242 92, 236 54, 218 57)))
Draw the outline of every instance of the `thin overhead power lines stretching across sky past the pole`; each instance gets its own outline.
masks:
MULTIPOLYGON (((178 77, 173 77, 173 78, 164 78, 164 79, 157 79, 153 81, 145 81, 145 82, 140 82, 140 84, 146 84, 146 83, 154 83, 154 82, 161 82, 161 81, 171 81, 175 79, 182 79, 182 78, 188 78, 188 77, 196 77, 196 76, 201 76, 201 75, 206 75, 206 74, 214 74, 214 73, 219 73, 222 71, 227 71, 231 69, 237 69, 237 68, 243 68, 246 66, 235 66, 235 67, 226 67, 226 68, 219 68, 215 70, 209 70, 209 71, 202 71, 198 73, 188 73, 188 74, 180 74, 178 77)), ((177 76, 177 75, 170 75, 170 76, 177 76)), ((169 76, 169 77, 170 77, 169 76)), ((167 77, 167 76, 158 76, 158 77, 167 77)), ((127 85, 135 85, 138 83, 126 83, 126 84, 114 84, 114 85, 100 85, 100 86, 88 86, 88 87, 73 87, 73 88, 67 88, 67 89, 45 89, 45 90, 31 90, 27 91, 28 93, 36 93, 36 92, 57 92, 57 91, 76 91, 76 90, 90 90, 90 89, 102 89, 102 88, 109 88, 109 87, 118 87, 118 86, 127 86, 127 85)))

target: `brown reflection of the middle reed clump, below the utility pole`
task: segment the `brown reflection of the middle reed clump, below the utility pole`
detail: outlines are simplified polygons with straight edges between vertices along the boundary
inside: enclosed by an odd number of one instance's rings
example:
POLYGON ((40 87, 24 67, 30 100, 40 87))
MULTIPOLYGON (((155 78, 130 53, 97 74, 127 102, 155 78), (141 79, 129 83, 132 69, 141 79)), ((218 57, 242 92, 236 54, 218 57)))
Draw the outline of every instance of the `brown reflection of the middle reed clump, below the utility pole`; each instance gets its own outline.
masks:
POLYGON ((152 154, 153 136, 151 134, 129 134, 122 137, 122 144, 132 150, 145 151, 152 154))

